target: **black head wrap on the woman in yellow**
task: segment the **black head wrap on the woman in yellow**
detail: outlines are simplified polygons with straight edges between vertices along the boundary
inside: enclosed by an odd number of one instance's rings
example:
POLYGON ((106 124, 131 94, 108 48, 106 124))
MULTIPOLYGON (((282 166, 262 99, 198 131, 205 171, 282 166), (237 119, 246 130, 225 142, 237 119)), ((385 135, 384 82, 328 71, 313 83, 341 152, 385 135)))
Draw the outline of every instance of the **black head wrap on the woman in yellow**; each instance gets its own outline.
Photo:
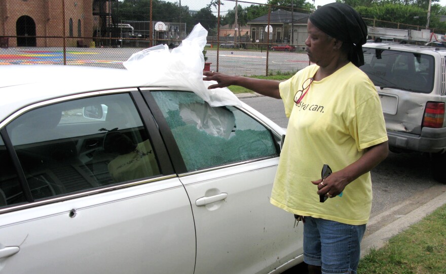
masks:
POLYGON ((367 41, 367 25, 352 7, 342 3, 327 4, 309 19, 321 31, 350 45, 349 61, 357 67, 364 64, 362 45, 367 41))

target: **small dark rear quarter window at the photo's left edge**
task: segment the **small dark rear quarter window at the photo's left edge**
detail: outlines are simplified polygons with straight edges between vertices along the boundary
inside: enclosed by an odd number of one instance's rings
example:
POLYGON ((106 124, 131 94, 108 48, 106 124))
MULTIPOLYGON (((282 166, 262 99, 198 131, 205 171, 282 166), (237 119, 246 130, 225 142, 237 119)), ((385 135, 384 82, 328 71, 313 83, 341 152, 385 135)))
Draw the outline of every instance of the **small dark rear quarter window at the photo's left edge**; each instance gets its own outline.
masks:
POLYGON ((0 137, 0 208, 26 202, 16 169, 0 137))

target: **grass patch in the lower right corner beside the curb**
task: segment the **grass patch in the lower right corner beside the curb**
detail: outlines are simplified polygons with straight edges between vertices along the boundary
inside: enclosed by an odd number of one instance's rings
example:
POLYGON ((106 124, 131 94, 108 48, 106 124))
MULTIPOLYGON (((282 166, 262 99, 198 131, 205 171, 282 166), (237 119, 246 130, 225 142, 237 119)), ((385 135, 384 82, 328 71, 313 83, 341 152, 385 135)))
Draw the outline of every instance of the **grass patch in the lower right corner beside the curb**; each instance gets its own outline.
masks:
POLYGON ((446 205, 391 238, 359 262, 358 273, 440 274, 446 272, 446 205))

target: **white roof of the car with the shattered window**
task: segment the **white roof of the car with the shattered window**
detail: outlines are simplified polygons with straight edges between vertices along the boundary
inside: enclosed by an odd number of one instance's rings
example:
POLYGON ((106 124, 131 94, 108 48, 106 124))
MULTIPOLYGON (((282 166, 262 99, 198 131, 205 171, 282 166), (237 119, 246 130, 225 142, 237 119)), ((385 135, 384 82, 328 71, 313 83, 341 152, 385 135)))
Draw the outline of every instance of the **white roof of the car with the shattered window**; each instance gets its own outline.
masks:
POLYGON ((71 65, 6 65, 0 75, 0 121, 31 104, 143 82, 126 69, 71 65))

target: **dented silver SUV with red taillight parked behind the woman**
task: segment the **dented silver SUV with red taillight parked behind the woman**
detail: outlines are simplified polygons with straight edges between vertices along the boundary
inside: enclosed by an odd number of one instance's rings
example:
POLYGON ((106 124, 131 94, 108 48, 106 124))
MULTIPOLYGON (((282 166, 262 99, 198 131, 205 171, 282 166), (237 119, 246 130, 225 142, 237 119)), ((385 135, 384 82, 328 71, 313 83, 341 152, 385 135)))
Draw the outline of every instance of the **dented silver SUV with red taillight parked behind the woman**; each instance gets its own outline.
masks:
POLYGON ((360 68, 375 83, 393 152, 428 153, 436 180, 446 182, 446 49, 366 43, 360 68))

